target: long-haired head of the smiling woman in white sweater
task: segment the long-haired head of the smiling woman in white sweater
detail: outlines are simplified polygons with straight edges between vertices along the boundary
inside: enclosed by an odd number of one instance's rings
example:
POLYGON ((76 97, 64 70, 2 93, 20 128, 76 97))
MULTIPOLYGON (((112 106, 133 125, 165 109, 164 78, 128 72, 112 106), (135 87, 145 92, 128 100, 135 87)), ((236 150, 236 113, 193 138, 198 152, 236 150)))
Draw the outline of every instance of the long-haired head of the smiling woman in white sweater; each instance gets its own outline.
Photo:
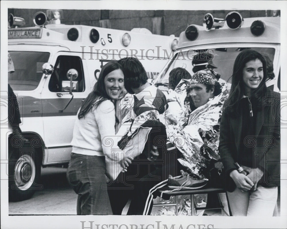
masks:
POLYGON ((78 118, 84 117, 94 106, 95 108, 104 100, 118 98, 124 88, 124 73, 122 66, 117 62, 108 62, 102 67, 98 81, 92 92, 84 100, 78 118), (95 100, 100 100, 94 104, 95 100))

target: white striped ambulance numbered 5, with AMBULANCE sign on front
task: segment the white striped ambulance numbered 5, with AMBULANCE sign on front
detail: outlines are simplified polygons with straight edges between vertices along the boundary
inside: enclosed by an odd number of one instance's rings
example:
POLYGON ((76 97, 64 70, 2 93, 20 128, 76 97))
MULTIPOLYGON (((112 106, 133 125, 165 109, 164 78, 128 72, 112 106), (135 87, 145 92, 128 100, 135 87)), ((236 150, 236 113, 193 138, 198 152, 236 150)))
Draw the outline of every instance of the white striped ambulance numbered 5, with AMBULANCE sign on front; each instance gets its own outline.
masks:
MULTIPOLYGON (((24 143, 7 124, 9 199, 32 197, 41 166, 67 165, 76 113, 103 65, 137 57, 150 81, 174 51, 178 38, 131 31, 61 24, 62 10, 34 15, 35 27, 8 16, 8 53, 15 71, 8 83, 17 95, 24 143)), ((11 108, 11 110, 13 110, 11 108)))

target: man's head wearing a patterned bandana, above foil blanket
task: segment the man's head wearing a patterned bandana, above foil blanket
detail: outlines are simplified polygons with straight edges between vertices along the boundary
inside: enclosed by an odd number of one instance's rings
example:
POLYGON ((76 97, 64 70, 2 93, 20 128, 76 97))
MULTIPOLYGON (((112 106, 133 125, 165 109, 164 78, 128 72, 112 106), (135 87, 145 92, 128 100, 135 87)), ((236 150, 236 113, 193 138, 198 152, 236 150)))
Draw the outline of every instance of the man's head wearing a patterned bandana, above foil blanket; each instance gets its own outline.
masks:
POLYGON ((221 93, 219 77, 218 73, 210 69, 198 71, 191 77, 188 92, 196 108, 221 93))

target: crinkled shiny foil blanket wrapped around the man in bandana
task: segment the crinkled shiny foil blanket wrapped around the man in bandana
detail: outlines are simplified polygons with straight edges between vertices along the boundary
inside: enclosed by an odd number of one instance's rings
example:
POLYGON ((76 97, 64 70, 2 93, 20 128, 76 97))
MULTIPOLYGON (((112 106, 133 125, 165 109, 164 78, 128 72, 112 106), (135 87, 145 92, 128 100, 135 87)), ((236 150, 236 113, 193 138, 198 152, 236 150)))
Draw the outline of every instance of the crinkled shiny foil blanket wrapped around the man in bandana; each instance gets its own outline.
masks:
POLYGON ((221 94, 190 113, 189 103, 185 101, 189 80, 182 80, 174 92, 166 92, 169 108, 165 114, 159 115, 160 121, 166 125, 168 140, 182 153, 179 162, 196 179, 207 179, 205 168, 210 160, 220 160, 219 119, 228 97, 227 85, 221 85, 221 94))

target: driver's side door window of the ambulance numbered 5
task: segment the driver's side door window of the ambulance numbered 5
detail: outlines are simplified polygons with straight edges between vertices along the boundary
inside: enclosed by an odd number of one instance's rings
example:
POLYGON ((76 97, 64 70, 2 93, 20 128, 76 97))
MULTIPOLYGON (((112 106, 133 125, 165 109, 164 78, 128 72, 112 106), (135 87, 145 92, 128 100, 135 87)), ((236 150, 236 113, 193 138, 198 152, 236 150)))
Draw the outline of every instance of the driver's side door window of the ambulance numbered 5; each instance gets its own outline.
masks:
POLYGON ((85 90, 84 72, 81 58, 77 56, 59 56, 56 60, 54 72, 49 81, 49 90, 51 92, 69 91, 69 79, 67 72, 69 69, 76 69, 77 79, 73 80, 73 92, 83 92, 85 90))

